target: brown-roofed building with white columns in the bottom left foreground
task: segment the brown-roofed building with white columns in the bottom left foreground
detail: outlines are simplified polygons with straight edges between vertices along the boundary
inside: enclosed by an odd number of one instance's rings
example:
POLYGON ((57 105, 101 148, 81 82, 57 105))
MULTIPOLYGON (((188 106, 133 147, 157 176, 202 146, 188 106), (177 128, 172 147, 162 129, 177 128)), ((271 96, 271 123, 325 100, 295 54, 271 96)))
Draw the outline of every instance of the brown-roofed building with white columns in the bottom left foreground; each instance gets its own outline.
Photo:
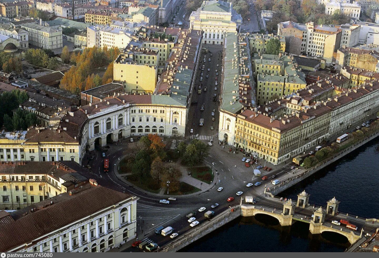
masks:
POLYGON ((54 199, 0 211, 0 251, 106 252, 135 238, 137 200, 90 179, 54 199))

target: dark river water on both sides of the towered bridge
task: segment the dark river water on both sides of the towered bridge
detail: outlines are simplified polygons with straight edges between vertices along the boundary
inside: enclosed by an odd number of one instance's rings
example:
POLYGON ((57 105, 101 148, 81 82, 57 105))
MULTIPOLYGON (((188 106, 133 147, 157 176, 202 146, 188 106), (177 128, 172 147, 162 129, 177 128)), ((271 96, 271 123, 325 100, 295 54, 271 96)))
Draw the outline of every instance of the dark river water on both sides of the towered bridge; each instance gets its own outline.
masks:
MULTIPOLYGON (((297 199, 305 190, 310 203, 325 206, 334 196, 339 210, 364 218, 379 218, 379 139, 357 149, 324 171, 280 194, 297 199)), ((309 233, 309 224, 281 227, 261 214, 240 217, 182 249, 182 252, 343 252, 350 244, 337 233, 309 233)))

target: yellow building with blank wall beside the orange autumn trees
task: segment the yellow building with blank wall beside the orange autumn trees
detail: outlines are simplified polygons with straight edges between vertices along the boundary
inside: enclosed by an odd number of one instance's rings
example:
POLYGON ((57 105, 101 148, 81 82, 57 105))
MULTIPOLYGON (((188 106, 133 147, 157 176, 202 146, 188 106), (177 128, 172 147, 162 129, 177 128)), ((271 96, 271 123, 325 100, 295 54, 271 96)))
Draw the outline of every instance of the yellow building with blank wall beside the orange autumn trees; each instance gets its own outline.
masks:
POLYGON ((157 85, 158 53, 140 48, 120 54, 113 64, 113 79, 122 82, 125 92, 153 93, 157 85))

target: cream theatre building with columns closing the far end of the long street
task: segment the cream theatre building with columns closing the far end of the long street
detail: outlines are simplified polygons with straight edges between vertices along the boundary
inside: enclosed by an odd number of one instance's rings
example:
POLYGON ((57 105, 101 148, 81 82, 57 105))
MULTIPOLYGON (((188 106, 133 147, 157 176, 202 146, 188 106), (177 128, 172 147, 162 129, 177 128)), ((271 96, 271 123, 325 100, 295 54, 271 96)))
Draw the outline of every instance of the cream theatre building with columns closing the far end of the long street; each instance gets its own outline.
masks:
POLYGON ((189 28, 203 32, 204 44, 223 44, 225 34, 240 31, 242 17, 232 3, 221 0, 203 1, 189 17, 189 28))

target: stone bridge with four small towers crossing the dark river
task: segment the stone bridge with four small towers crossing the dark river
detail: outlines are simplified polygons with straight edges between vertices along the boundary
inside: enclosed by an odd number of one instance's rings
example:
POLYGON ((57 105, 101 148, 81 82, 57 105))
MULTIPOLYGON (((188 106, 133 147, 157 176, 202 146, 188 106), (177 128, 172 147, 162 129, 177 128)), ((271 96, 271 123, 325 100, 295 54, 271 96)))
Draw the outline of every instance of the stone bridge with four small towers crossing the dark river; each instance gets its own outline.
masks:
POLYGON ((241 214, 242 216, 255 216, 257 214, 272 216, 282 226, 291 226, 295 221, 309 223, 310 233, 335 232, 345 236, 351 244, 362 238, 363 231, 371 232, 379 226, 378 219, 363 219, 358 216, 339 213, 338 205, 340 202, 335 198, 330 199, 324 208, 312 207, 309 204, 309 196, 310 194, 303 191, 298 194, 296 203, 291 199, 282 201, 282 199, 273 198, 256 205, 241 205, 241 214), (356 225, 357 230, 347 228, 342 223, 341 225, 331 223, 334 220, 340 222, 341 219, 356 225))

